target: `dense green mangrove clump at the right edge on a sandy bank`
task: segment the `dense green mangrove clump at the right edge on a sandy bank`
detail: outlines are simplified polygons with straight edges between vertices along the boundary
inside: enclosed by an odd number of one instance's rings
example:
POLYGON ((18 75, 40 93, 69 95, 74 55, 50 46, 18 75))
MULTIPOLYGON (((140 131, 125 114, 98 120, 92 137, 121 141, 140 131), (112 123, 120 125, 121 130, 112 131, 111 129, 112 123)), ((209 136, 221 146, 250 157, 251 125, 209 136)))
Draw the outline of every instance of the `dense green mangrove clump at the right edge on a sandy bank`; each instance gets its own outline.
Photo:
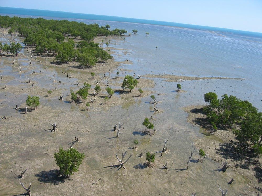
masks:
POLYGON ((262 113, 250 102, 227 94, 223 95, 222 99, 217 99, 213 92, 206 93, 204 99, 208 102, 204 112, 214 129, 217 129, 217 126, 238 125, 234 126, 233 133, 240 142, 261 146, 262 113))

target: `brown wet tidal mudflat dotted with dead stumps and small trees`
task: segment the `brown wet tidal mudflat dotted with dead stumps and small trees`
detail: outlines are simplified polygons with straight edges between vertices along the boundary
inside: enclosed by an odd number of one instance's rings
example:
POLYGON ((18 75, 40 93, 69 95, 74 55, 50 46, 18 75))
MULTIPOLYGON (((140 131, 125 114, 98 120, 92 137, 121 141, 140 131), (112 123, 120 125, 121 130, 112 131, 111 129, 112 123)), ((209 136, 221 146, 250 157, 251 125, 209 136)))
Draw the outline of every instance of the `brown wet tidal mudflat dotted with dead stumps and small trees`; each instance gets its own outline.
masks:
MULTIPOLYGON (((105 42, 105 38, 103 39, 105 42)), ((120 63, 130 64, 130 61, 116 62, 112 59, 107 63, 97 63, 92 68, 83 68, 76 63, 51 64, 54 57, 38 57, 41 62, 32 60, 30 68, 27 69, 27 57, 26 52, 19 54, 14 65, 10 57, 1 57, 0 74, 4 79, 0 80, 0 86, 7 84, 7 88, 0 89, 0 115, 9 119, 0 121, 0 195, 24 193, 20 181, 25 186, 32 183, 32 195, 184 196, 197 192, 198 195, 218 196, 221 194, 217 183, 228 189, 230 195, 255 193, 253 187, 247 184, 251 181, 232 169, 225 173, 219 172, 220 163, 210 158, 206 158, 205 163, 197 163, 198 149, 193 154, 189 169, 185 170, 193 141, 199 136, 199 128, 186 123, 185 112, 174 110, 169 102, 172 97, 166 97, 165 89, 156 91, 161 87, 155 82, 154 75, 142 76, 138 80, 138 86, 128 93, 121 91, 120 87, 124 74, 128 71, 118 70, 118 66, 120 63), (22 73, 18 73, 19 64, 22 66, 22 73), (32 74, 32 69, 36 70, 35 74, 32 74), (44 72, 40 73, 40 70, 44 72), (72 78, 62 74, 65 70, 67 73, 71 72, 72 78), (113 79, 117 71, 121 74, 118 79, 113 79), (96 73, 94 79, 91 79, 91 72, 96 73), (104 73, 106 78, 102 78, 104 73), (34 87, 26 83, 27 76, 31 78, 34 87), (90 102, 95 83, 100 79, 103 79, 99 83, 101 93, 86 111, 85 104, 90 102), (78 82, 80 85, 75 85, 78 82), (91 84, 88 99, 85 103, 70 103, 69 90, 77 91, 84 82, 91 84), (103 97, 107 95, 107 82, 117 93, 105 105, 103 97), (138 96, 138 88, 144 91, 141 96, 138 96), (53 91, 51 96, 48 96, 48 90, 53 91), (158 94, 156 106, 160 112, 152 112, 154 105, 149 103, 152 94, 158 94), (28 95, 39 96, 41 105, 37 110, 23 114, 28 95), (64 100, 58 100, 62 95, 64 100), (21 110, 13 109, 16 104, 21 110), (153 136, 143 135, 141 131, 144 127, 141 123, 145 117, 150 116, 154 118, 152 123, 157 132, 153 136), (116 132, 112 130, 119 121, 123 123, 123 133, 116 138, 116 132), (57 131, 46 131, 54 122, 57 122, 57 131), (71 179, 61 181, 57 178, 58 167, 53 154, 58 151, 59 146, 69 148, 74 136, 78 136, 80 142, 73 147, 84 153, 85 158, 79 171, 75 172, 71 179), (168 151, 160 157, 165 138, 169 138, 168 151), (139 141, 137 150, 129 149, 134 146, 135 139, 139 141), (106 168, 117 164, 115 154, 119 155, 124 151, 127 151, 127 156, 132 154, 125 164, 127 171, 123 168, 118 171, 116 168, 106 168), (155 153, 153 168, 145 168, 143 165, 146 161, 145 155, 138 157, 145 151, 155 153), (168 163, 167 170, 163 169, 165 163, 168 163), (17 179, 15 173, 19 174, 25 168, 26 177, 17 179), (234 178, 236 183, 228 185, 231 178, 234 178), (93 184, 95 180, 97 185, 93 184)), ((133 75, 132 70, 129 72, 133 75)))

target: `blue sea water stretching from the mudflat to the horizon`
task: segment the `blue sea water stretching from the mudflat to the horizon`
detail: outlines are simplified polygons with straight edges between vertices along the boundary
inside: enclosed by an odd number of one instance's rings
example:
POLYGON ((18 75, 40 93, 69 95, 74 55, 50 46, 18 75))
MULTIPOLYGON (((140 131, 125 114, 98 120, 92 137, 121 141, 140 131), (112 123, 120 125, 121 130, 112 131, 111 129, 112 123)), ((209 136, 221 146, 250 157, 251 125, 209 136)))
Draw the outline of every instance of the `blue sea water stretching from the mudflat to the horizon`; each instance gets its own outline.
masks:
MULTIPOLYGON (((111 47, 129 51, 126 54, 116 51, 114 54, 116 60, 133 61, 132 65, 122 65, 121 68, 129 68, 142 75, 183 73, 185 76, 245 78, 186 81, 181 84, 183 89, 195 93, 194 97, 189 96, 193 104, 204 103, 203 94, 214 91, 219 96, 227 93, 249 100, 262 110, 262 33, 19 8, 0 7, 0 15, 66 19, 101 26, 109 24, 111 29, 124 28, 128 33, 136 29, 138 34, 126 36, 125 42, 110 42, 111 47), (145 36, 145 32, 149 32, 149 36, 145 36)), ((176 84, 173 85, 176 88, 176 84)))

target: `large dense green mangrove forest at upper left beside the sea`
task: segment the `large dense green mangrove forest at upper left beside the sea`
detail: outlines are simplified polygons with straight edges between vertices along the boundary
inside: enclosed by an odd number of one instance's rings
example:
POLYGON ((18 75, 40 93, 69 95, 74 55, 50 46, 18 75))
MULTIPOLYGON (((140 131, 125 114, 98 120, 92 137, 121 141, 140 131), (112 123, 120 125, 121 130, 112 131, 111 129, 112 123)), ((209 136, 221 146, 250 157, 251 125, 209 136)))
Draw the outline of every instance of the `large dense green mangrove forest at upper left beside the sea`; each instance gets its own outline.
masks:
MULTIPOLYGON (((99 27, 98 24, 85 24, 83 22, 67 20, 46 20, 43 18, 20 18, 0 16, 0 26, 10 28, 12 35, 18 32, 24 36, 23 43, 27 48, 35 48, 35 53, 56 56, 62 63, 77 61, 80 65, 92 66, 97 61, 106 61, 112 58, 105 50, 92 40, 100 36, 124 35, 124 29, 108 30, 109 25, 99 27), (75 47, 72 38, 80 37, 82 41, 75 47)), ((12 43, 13 44, 13 43, 12 43)), ((19 43, 18 43, 19 44, 19 43)), ((20 45, 2 46, 1 50, 17 55, 20 45), (17 49, 15 49, 15 47, 17 49)))

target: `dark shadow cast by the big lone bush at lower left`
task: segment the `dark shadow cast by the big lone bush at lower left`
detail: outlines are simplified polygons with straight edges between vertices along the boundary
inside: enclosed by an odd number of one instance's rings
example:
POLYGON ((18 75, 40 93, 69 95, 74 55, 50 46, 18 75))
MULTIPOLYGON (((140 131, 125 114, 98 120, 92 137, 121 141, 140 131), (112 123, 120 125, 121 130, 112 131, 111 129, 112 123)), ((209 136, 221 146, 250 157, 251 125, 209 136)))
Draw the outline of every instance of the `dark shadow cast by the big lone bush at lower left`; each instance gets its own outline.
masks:
POLYGON ((53 169, 49 171, 41 171, 38 174, 35 174, 38 177, 38 181, 43 183, 50 183, 53 185, 58 185, 59 183, 64 183, 65 178, 59 176, 59 170, 53 169))

